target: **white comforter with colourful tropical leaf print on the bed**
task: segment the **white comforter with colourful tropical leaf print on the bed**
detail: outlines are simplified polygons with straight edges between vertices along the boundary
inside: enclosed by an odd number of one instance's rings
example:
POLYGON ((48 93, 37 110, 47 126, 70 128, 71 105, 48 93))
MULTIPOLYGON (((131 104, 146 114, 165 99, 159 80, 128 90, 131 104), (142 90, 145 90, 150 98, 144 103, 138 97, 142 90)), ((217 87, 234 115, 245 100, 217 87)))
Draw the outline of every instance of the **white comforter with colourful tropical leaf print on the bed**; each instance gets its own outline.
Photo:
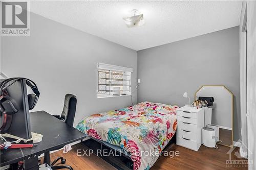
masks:
POLYGON ((118 145, 131 154, 134 169, 144 170, 156 162, 159 153, 175 134, 178 108, 142 102, 85 117, 76 128, 93 138, 118 145))

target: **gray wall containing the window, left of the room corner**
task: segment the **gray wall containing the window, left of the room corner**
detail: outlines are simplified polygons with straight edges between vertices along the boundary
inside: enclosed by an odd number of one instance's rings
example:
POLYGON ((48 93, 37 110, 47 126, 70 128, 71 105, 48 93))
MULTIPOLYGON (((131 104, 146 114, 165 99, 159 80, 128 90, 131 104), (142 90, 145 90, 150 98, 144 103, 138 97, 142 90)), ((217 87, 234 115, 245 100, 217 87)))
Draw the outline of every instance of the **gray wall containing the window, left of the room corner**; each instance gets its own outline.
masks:
POLYGON ((97 99, 97 62, 133 68, 134 89, 136 57, 134 50, 33 13, 30 36, 1 37, 1 70, 38 85, 41 95, 34 110, 60 114, 65 94, 75 94, 74 125, 86 115, 131 105, 130 96, 97 99))

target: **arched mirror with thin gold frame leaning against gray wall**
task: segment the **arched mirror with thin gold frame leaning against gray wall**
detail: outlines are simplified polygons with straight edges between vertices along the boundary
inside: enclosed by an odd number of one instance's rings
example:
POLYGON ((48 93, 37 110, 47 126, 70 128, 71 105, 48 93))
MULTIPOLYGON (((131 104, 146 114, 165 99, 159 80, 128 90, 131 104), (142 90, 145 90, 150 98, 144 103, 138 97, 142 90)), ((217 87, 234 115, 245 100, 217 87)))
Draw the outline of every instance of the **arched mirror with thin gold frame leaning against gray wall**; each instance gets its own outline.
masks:
MULTIPOLYGON (((206 125, 219 129, 218 144, 233 146, 233 93, 223 85, 203 85, 195 93, 196 97, 214 97, 214 103, 205 112, 206 125), (211 115, 210 115, 211 114, 211 115), (207 118, 208 116, 208 118, 207 118), (209 117, 211 119, 209 119, 209 117)), ((211 128, 211 127, 210 127, 211 128)))

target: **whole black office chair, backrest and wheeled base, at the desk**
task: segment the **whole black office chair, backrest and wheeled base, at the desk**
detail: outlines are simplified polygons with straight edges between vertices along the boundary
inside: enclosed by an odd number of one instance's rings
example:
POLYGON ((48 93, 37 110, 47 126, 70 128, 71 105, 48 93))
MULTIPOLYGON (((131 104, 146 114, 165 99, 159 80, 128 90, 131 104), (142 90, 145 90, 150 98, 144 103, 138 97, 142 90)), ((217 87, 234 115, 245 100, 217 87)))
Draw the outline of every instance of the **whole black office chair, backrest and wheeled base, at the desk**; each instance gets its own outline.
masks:
MULTIPOLYGON (((76 102, 77 101, 76 101, 76 96, 75 95, 66 94, 65 95, 64 107, 63 107, 63 111, 62 111, 61 115, 53 115, 53 116, 62 120, 63 122, 65 122, 69 126, 73 127, 74 117, 75 117, 75 113, 76 113, 76 102)), ((61 149, 62 147, 57 148, 56 150, 61 149)), ((50 163, 50 152, 45 153, 44 163, 49 164, 52 169, 67 168, 67 169, 73 170, 73 168, 69 165, 54 166, 54 164, 57 163, 58 160, 61 160, 61 164, 66 163, 66 159, 63 158, 63 157, 58 157, 57 159, 55 159, 53 162, 50 163)))

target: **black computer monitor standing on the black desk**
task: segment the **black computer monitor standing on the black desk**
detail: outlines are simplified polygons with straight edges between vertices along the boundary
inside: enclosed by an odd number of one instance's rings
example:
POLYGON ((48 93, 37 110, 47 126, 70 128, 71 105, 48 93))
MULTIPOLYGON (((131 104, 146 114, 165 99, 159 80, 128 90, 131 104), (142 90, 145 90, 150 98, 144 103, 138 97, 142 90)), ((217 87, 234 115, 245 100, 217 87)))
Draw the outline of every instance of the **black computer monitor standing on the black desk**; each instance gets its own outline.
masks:
MULTIPOLYGON (((0 80, 0 82, 3 81, 4 80, 0 80)), ((4 131, 1 130, 1 134, 8 133, 23 139, 32 138, 26 81, 20 79, 5 90, 6 95, 15 102, 18 112, 9 116, 9 122, 11 122, 11 124, 8 129, 4 131)), ((1 114, 1 118, 7 116, 3 115, 5 113, 1 114)))

